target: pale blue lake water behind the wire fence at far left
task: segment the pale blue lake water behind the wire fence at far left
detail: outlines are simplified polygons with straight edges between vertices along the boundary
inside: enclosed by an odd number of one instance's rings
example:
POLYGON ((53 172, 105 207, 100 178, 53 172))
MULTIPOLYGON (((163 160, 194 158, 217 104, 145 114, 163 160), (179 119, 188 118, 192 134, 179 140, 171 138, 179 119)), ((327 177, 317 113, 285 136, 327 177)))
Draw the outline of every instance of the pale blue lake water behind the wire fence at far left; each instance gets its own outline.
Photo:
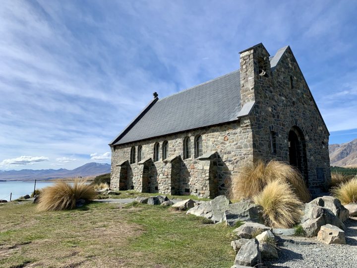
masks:
MULTIPOLYGON (((53 184, 53 182, 36 182, 36 189, 41 189, 53 184)), ((0 182, 0 199, 9 201, 10 193, 12 193, 11 200, 25 195, 31 196, 34 186, 35 182, 0 182)))

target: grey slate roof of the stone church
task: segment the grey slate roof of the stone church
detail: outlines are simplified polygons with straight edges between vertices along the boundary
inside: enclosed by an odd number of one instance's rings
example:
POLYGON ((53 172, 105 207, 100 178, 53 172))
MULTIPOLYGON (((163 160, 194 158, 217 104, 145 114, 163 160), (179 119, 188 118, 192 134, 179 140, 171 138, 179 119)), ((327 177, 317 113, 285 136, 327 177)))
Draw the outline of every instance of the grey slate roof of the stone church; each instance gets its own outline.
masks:
MULTIPOLYGON (((270 61, 276 65, 279 59, 274 58, 270 61)), ((110 145, 231 122, 246 115, 252 105, 240 112, 238 69, 163 99, 154 99, 110 145)))

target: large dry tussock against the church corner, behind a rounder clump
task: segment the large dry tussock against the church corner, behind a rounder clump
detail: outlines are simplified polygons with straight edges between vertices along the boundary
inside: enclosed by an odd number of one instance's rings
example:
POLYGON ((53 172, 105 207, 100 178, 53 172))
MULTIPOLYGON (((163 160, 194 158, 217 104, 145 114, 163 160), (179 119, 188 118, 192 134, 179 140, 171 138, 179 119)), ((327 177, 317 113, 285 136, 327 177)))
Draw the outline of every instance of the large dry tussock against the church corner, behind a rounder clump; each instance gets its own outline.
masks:
POLYGON ((277 160, 271 160, 267 164, 258 160, 253 165, 243 167, 238 177, 233 180, 230 198, 253 198, 273 181, 289 183, 301 201, 310 201, 310 193, 301 174, 291 165, 277 160))

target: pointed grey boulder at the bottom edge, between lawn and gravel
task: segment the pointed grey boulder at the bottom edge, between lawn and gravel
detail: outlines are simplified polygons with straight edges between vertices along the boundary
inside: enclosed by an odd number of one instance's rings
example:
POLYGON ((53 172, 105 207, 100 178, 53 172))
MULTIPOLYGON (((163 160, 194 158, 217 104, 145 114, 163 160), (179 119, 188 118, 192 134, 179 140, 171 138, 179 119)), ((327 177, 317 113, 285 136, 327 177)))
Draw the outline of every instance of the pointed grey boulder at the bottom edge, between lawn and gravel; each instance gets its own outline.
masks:
POLYGON ((235 265, 261 267, 261 256, 258 241, 254 238, 245 243, 236 255, 235 265))

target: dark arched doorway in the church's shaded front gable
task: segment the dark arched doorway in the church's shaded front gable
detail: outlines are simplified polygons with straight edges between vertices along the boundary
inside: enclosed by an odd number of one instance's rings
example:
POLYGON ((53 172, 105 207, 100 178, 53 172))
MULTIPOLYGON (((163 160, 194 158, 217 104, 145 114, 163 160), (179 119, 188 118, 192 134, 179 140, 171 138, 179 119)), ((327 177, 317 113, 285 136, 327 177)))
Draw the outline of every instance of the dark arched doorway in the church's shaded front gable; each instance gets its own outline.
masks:
POLYGON ((289 132, 289 161, 300 171, 308 186, 306 142, 302 131, 297 126, 289 132))

